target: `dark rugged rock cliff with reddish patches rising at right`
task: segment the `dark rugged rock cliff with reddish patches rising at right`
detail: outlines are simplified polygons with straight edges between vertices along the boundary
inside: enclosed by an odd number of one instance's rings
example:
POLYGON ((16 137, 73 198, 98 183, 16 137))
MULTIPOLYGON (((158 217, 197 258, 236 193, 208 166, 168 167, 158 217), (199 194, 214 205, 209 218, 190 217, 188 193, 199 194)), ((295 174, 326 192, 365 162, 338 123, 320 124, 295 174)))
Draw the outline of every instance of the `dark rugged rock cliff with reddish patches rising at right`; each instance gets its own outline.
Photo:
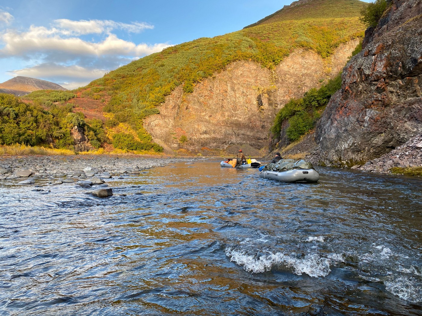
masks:
POLYGON ((394 0, 319 121, 327 165, 368 161, 422 132, 422 0, 394 0))

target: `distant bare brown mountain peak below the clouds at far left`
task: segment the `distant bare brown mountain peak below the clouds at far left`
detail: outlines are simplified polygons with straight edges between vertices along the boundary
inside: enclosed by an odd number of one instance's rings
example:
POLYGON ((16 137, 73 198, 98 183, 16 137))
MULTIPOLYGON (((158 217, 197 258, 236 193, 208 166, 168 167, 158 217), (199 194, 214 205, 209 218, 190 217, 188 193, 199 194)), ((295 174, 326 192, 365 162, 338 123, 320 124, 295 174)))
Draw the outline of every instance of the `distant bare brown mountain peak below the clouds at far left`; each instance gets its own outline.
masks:
POLYGON ((3 83, 0 83, 1 93, 14 94, 15 96, 23 96, 36 90, 67 91, 68 89, 63 88, 54 82, 24 76, 17 76, 3 83))

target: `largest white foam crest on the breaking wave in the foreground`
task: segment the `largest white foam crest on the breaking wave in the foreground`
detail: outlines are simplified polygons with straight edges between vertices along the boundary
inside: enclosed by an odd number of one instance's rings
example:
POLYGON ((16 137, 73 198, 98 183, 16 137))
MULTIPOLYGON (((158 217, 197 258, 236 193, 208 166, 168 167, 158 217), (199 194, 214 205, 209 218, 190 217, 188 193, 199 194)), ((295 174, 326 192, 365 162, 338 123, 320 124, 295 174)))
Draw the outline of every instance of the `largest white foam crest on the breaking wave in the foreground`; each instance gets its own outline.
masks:
POLYGON ((292 272, 299 276, 303 273, 314 277, 327 276, 331 272, 331 260, 321 257, 319 254, 306 254, 304 257, 297 258, 294 254, 285 255, 281 252, 268 252, 268 254, 258 257, 257 254, 248 254, 243 249, 230 247, 225 249, 225 253, 230 261, 243 265, 246 271, 253 273, 266 272, 281 265, 292 268, 292 272))

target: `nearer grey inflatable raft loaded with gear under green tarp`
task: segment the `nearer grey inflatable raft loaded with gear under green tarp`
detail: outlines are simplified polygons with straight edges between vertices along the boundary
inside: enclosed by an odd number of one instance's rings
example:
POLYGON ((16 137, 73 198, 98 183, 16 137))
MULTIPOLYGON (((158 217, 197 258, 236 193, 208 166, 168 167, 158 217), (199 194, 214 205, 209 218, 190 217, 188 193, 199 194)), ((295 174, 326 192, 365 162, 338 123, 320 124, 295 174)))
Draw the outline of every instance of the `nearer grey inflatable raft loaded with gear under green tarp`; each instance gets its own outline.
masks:
POLYGON ((319 174, 312 163, 304 160, 280 159, 259 168, 260 177, 281 182, 318 182, 319 174))

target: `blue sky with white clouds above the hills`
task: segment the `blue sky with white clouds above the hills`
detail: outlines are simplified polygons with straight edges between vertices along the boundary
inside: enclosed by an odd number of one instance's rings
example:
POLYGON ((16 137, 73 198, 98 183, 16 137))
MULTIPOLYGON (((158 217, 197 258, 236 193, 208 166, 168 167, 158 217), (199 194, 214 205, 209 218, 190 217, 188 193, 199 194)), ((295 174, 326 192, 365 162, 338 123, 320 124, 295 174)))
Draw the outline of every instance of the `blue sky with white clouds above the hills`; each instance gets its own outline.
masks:
POLYGON ((0 83, 22 75, 77 88, 165 47, 238 31, 291 2, 2 0, 0 83))

